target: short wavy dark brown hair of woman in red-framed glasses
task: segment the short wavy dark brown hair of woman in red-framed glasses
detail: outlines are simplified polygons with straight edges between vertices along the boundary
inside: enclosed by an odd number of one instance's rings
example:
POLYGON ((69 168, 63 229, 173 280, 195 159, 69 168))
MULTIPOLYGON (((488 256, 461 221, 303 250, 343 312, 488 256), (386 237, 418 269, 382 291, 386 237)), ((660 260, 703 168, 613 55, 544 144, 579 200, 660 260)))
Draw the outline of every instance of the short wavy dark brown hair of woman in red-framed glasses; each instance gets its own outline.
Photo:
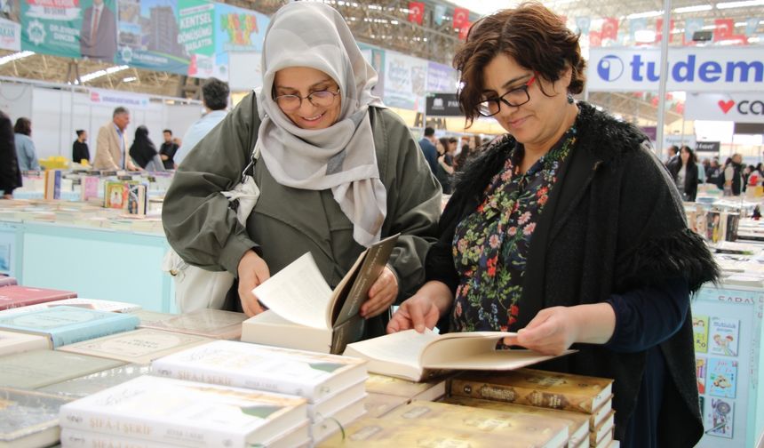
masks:
POLYGON ((551 82, 559 80, 569 67, 572 76, 568 92, 583 92, 586 62, 578 37, 560 16, 537 2, 526 2, 476 21, 454 56, 454 68, 461 73, 459 106, 467 125, 478 116, 484 90, 483 70, 498 54, 512 57, 522 67, 551 82))

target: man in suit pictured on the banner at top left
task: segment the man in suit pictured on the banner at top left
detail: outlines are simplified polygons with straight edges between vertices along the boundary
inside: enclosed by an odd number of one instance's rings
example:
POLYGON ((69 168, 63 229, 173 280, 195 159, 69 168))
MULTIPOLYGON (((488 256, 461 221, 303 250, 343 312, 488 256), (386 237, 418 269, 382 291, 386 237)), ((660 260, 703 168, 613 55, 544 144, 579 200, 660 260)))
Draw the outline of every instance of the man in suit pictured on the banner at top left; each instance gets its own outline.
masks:
POLYGON ((104 0, 93 0, 83 13, 80 29, 80 53, 83 57, 113 61, 116 53, 116 20, 104 0))

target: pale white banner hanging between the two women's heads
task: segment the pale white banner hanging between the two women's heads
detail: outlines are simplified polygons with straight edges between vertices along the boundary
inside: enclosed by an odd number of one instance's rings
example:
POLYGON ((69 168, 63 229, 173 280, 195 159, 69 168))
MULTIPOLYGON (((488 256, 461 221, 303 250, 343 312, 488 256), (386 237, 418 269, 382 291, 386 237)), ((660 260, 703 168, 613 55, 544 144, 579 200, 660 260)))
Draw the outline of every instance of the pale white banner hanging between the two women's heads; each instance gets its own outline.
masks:
POLYGON ((399 52, 385 52, 385 104, 425 111, 427 61, 399 52))

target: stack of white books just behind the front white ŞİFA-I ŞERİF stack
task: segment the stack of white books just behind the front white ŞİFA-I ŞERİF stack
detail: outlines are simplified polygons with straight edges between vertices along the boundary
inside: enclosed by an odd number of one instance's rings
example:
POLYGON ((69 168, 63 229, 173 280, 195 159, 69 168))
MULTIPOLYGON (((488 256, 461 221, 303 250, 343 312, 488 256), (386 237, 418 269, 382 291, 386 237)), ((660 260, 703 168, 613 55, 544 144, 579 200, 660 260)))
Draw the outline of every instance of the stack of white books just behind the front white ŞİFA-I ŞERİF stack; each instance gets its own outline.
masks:
POLYGON ((311 444, 364 413, 366 368, 362 360, 215 340, 155 360, 154 374, 301 396, 307 400, 311 444))

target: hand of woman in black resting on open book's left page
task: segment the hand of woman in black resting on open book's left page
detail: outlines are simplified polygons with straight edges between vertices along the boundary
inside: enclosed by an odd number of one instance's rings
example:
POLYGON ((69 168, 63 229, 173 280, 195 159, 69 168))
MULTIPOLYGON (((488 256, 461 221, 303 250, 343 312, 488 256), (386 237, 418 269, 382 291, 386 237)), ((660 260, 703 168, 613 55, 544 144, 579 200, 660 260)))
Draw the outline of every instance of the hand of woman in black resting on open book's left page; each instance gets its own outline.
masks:
POLYGON ((424 332, 425 328, 432 330, 452 302, 453 294, 448 286, 437 281, 427 282, 395 311, 387 324, 387 332, 412 328, 417 332, 424 332))

